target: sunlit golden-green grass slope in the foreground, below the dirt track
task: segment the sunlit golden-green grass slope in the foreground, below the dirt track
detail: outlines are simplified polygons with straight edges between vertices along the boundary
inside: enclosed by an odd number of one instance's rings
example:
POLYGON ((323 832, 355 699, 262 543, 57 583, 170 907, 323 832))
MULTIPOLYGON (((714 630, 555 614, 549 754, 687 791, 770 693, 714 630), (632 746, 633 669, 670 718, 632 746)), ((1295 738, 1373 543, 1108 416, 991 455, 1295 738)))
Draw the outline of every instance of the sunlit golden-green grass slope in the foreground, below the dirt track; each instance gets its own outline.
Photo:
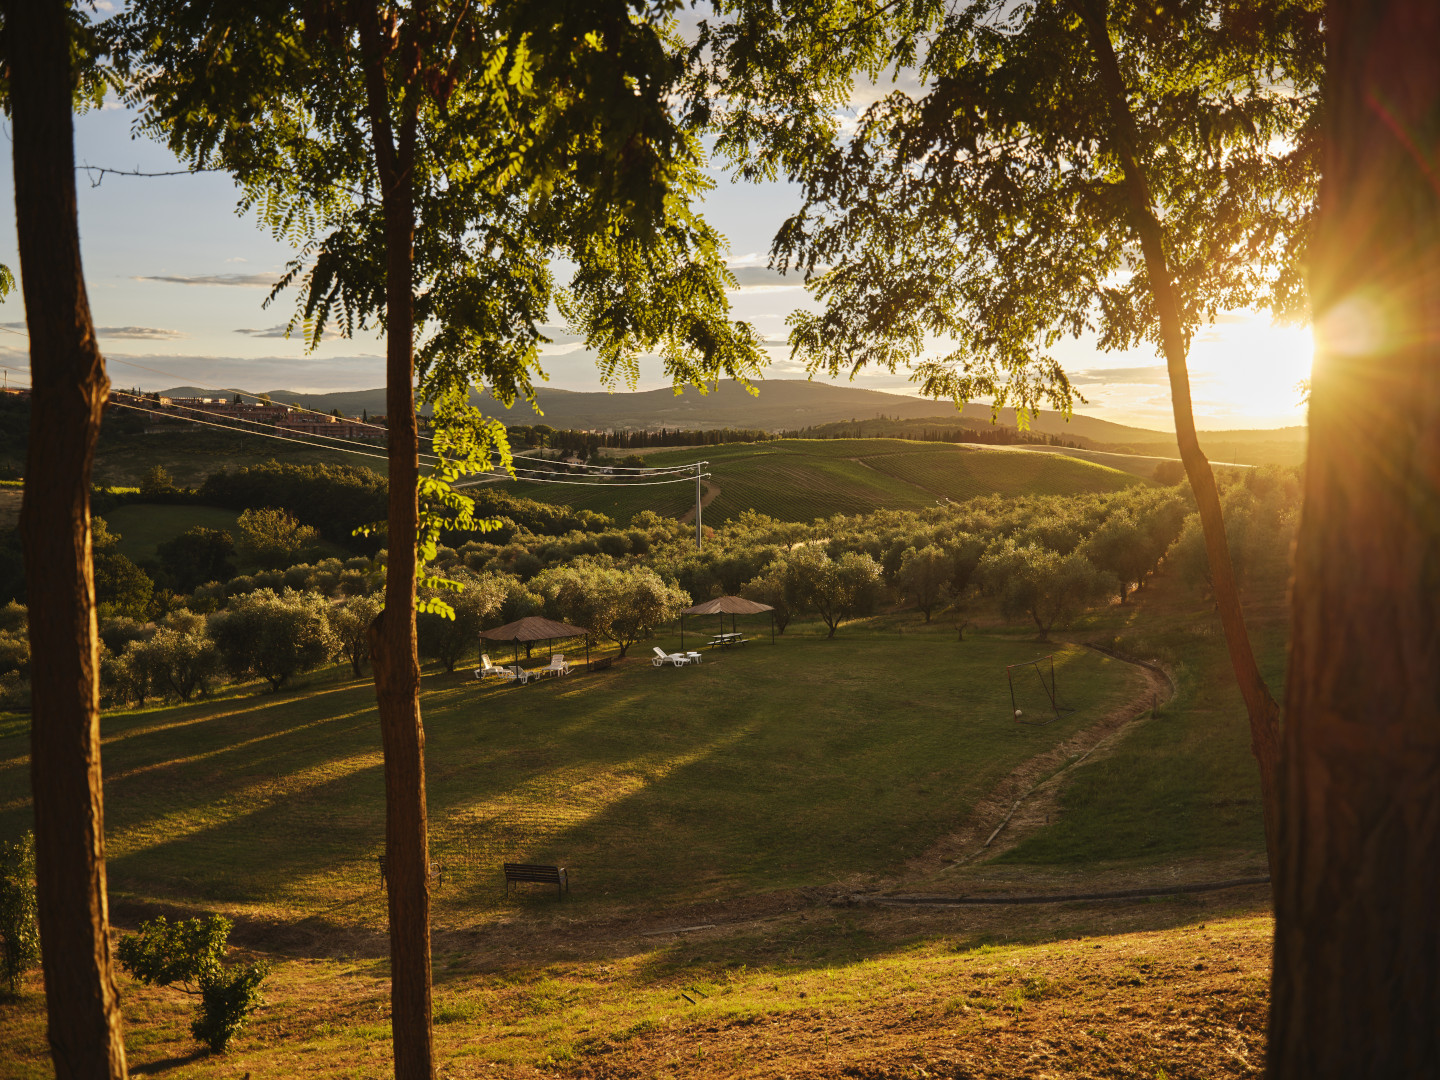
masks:
MULTIPOLYGON (((500 932, 436 955, 436 1071, 1240 1080, 1264 1057, 1272 923, 1225 903, 1031 912, 1018 935, 984 913, 812 909, 694 935, 616 927, 603 956, 500 932)), ((186 995, 120 986, 135 1074, 393 1076, 383 960, 278 963, 215 1057, 187 1031, 186 995)), ((37 973, 0 1005, 0 1054, 7 1077, 53 1076, 37 973)))

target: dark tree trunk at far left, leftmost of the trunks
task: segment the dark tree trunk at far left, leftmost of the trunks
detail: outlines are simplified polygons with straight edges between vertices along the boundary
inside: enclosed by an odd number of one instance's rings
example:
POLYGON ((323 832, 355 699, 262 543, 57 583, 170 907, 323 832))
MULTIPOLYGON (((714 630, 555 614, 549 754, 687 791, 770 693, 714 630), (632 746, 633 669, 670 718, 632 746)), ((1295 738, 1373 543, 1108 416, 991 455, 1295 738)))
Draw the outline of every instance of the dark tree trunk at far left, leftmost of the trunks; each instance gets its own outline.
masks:
POLYGON ((125 1044, 109 965, 89 520, 109 380, 81 266, 68 12, 63 0, 10 3, 6 32, 33 382, 20 533, 40 950, 55 1074, 89 1080, 125 1076, 125 1044))

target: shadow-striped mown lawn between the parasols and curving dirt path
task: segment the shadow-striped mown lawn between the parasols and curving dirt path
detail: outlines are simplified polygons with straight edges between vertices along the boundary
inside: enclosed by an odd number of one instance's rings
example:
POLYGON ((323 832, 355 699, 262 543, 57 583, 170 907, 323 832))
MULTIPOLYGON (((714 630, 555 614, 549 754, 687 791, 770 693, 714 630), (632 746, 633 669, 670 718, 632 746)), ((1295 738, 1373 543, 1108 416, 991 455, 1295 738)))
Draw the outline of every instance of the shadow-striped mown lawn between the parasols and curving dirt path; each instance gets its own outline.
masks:
MULTIPOLYGON (((1136 685, 1129 665, 1064 649, 1077 710, 1024 727, 1004 665, 1034 642, 808 629, 680 670, 632 657, 527 687, 429 675, 432 851, 454 871, 438 919, 543 899, 504 899, 505 860, 569 865, 569 907, 592 914, 883 876, 1136 685)), ((383 919, 369 681, 334 670, 285 694, 111 714, 102 733, 117 901, 383 919)), ((29 815, 26 749, 24 721, 7 721, 4 835, 29 815)))

